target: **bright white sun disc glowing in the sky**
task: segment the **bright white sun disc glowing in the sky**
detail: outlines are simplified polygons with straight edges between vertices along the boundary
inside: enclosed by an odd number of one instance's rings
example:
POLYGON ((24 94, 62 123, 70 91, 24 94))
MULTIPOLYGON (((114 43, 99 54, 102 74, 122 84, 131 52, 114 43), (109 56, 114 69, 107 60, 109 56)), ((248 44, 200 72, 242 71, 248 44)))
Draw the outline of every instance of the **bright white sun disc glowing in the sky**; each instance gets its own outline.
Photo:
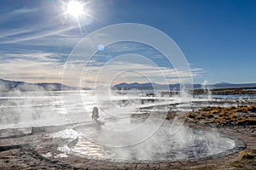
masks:
POLYGON ((70 1, 67 3, 67 14, 71 14, 74 17, 79 17, 80 14, 84 13, 84 6, 78 1, 70 1))

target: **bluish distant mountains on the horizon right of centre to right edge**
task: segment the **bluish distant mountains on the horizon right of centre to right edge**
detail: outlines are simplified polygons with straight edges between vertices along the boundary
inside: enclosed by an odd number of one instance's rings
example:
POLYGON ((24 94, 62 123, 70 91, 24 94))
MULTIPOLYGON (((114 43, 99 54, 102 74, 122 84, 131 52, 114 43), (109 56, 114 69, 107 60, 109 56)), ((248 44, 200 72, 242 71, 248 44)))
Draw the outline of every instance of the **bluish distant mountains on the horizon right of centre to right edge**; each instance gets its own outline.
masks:
MULTIPOLYGON (((126 83, 122 82, 120 84, 114 85, 113 88, 116 89, 140 89, 140 90, 178 90, 180 88, 180 84, 169 84, 169 85, 163 85, 163 84, 157 84, 157 83, 126 83)), ((216 84, 209 84, 209 85, 202 85, 202 84, 193 84, 194 89, 201 89, 201 88, 256 88, 256 83, 241 83, 241 84, 235 84, 230 82, 219 82, 216 84)))

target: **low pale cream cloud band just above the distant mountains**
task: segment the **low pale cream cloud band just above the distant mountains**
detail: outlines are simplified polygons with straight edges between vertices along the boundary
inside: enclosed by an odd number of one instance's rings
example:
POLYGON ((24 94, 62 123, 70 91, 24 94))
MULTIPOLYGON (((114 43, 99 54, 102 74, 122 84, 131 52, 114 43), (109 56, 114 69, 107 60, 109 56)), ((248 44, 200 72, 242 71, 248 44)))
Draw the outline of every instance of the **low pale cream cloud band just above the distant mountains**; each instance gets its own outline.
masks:
MULTIPOLYGON (((3 52, 1 54, 0 77, 15 79, 26 82, 61 82, 62 73, 65 69, 67 54, 58 54, 44 51, 20 51, 19 53, 3 52)), ((201 75, 199 68, 188 71, 177 71, 174 68, 157 66, 150 63, 133 62, 131 60, 116 59, 106 64, 92 59, 94 65, 84 65, 82 60, 73 62, 73 67, 67 69, 65 83, 73 86, 73 78, 81 77, 82 86, 95 87, 109 82, 117 84, 119 82, 158 82, 177 83, 201 75), (85 66, 85 67, 84 67, 85 66), (83 70, 79 68, 84 68, 83 70)))

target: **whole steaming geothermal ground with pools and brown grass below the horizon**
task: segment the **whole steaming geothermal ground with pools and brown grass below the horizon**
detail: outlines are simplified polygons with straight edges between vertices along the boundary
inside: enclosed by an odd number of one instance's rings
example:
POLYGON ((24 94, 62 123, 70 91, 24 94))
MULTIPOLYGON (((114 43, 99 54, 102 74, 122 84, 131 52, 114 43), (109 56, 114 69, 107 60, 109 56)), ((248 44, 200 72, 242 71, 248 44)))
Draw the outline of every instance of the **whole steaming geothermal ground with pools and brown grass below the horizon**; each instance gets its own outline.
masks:
POLYGON ((189 102, 160 91, 1 93, 0 167, 253 169, 253 92, 198 89, 189 102))

